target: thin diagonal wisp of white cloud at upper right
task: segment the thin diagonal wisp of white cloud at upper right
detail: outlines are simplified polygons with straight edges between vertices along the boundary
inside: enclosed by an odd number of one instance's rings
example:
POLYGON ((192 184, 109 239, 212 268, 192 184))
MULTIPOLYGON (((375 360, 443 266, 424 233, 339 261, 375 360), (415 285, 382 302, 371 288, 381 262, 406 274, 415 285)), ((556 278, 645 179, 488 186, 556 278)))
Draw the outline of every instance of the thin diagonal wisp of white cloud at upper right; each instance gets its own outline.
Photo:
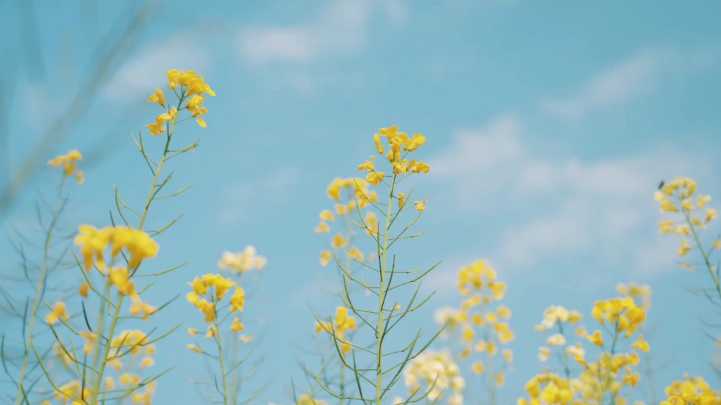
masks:
POLYGON ((704 68, 716 58, 717 53, 710 50, 694 53, 671 49, 644 50, 590 79, 580 94, 546 99, 542 107, 549 114, 562 118, 580 118, 592 110, 621 104, 651 92, 665 74, 704 68))

